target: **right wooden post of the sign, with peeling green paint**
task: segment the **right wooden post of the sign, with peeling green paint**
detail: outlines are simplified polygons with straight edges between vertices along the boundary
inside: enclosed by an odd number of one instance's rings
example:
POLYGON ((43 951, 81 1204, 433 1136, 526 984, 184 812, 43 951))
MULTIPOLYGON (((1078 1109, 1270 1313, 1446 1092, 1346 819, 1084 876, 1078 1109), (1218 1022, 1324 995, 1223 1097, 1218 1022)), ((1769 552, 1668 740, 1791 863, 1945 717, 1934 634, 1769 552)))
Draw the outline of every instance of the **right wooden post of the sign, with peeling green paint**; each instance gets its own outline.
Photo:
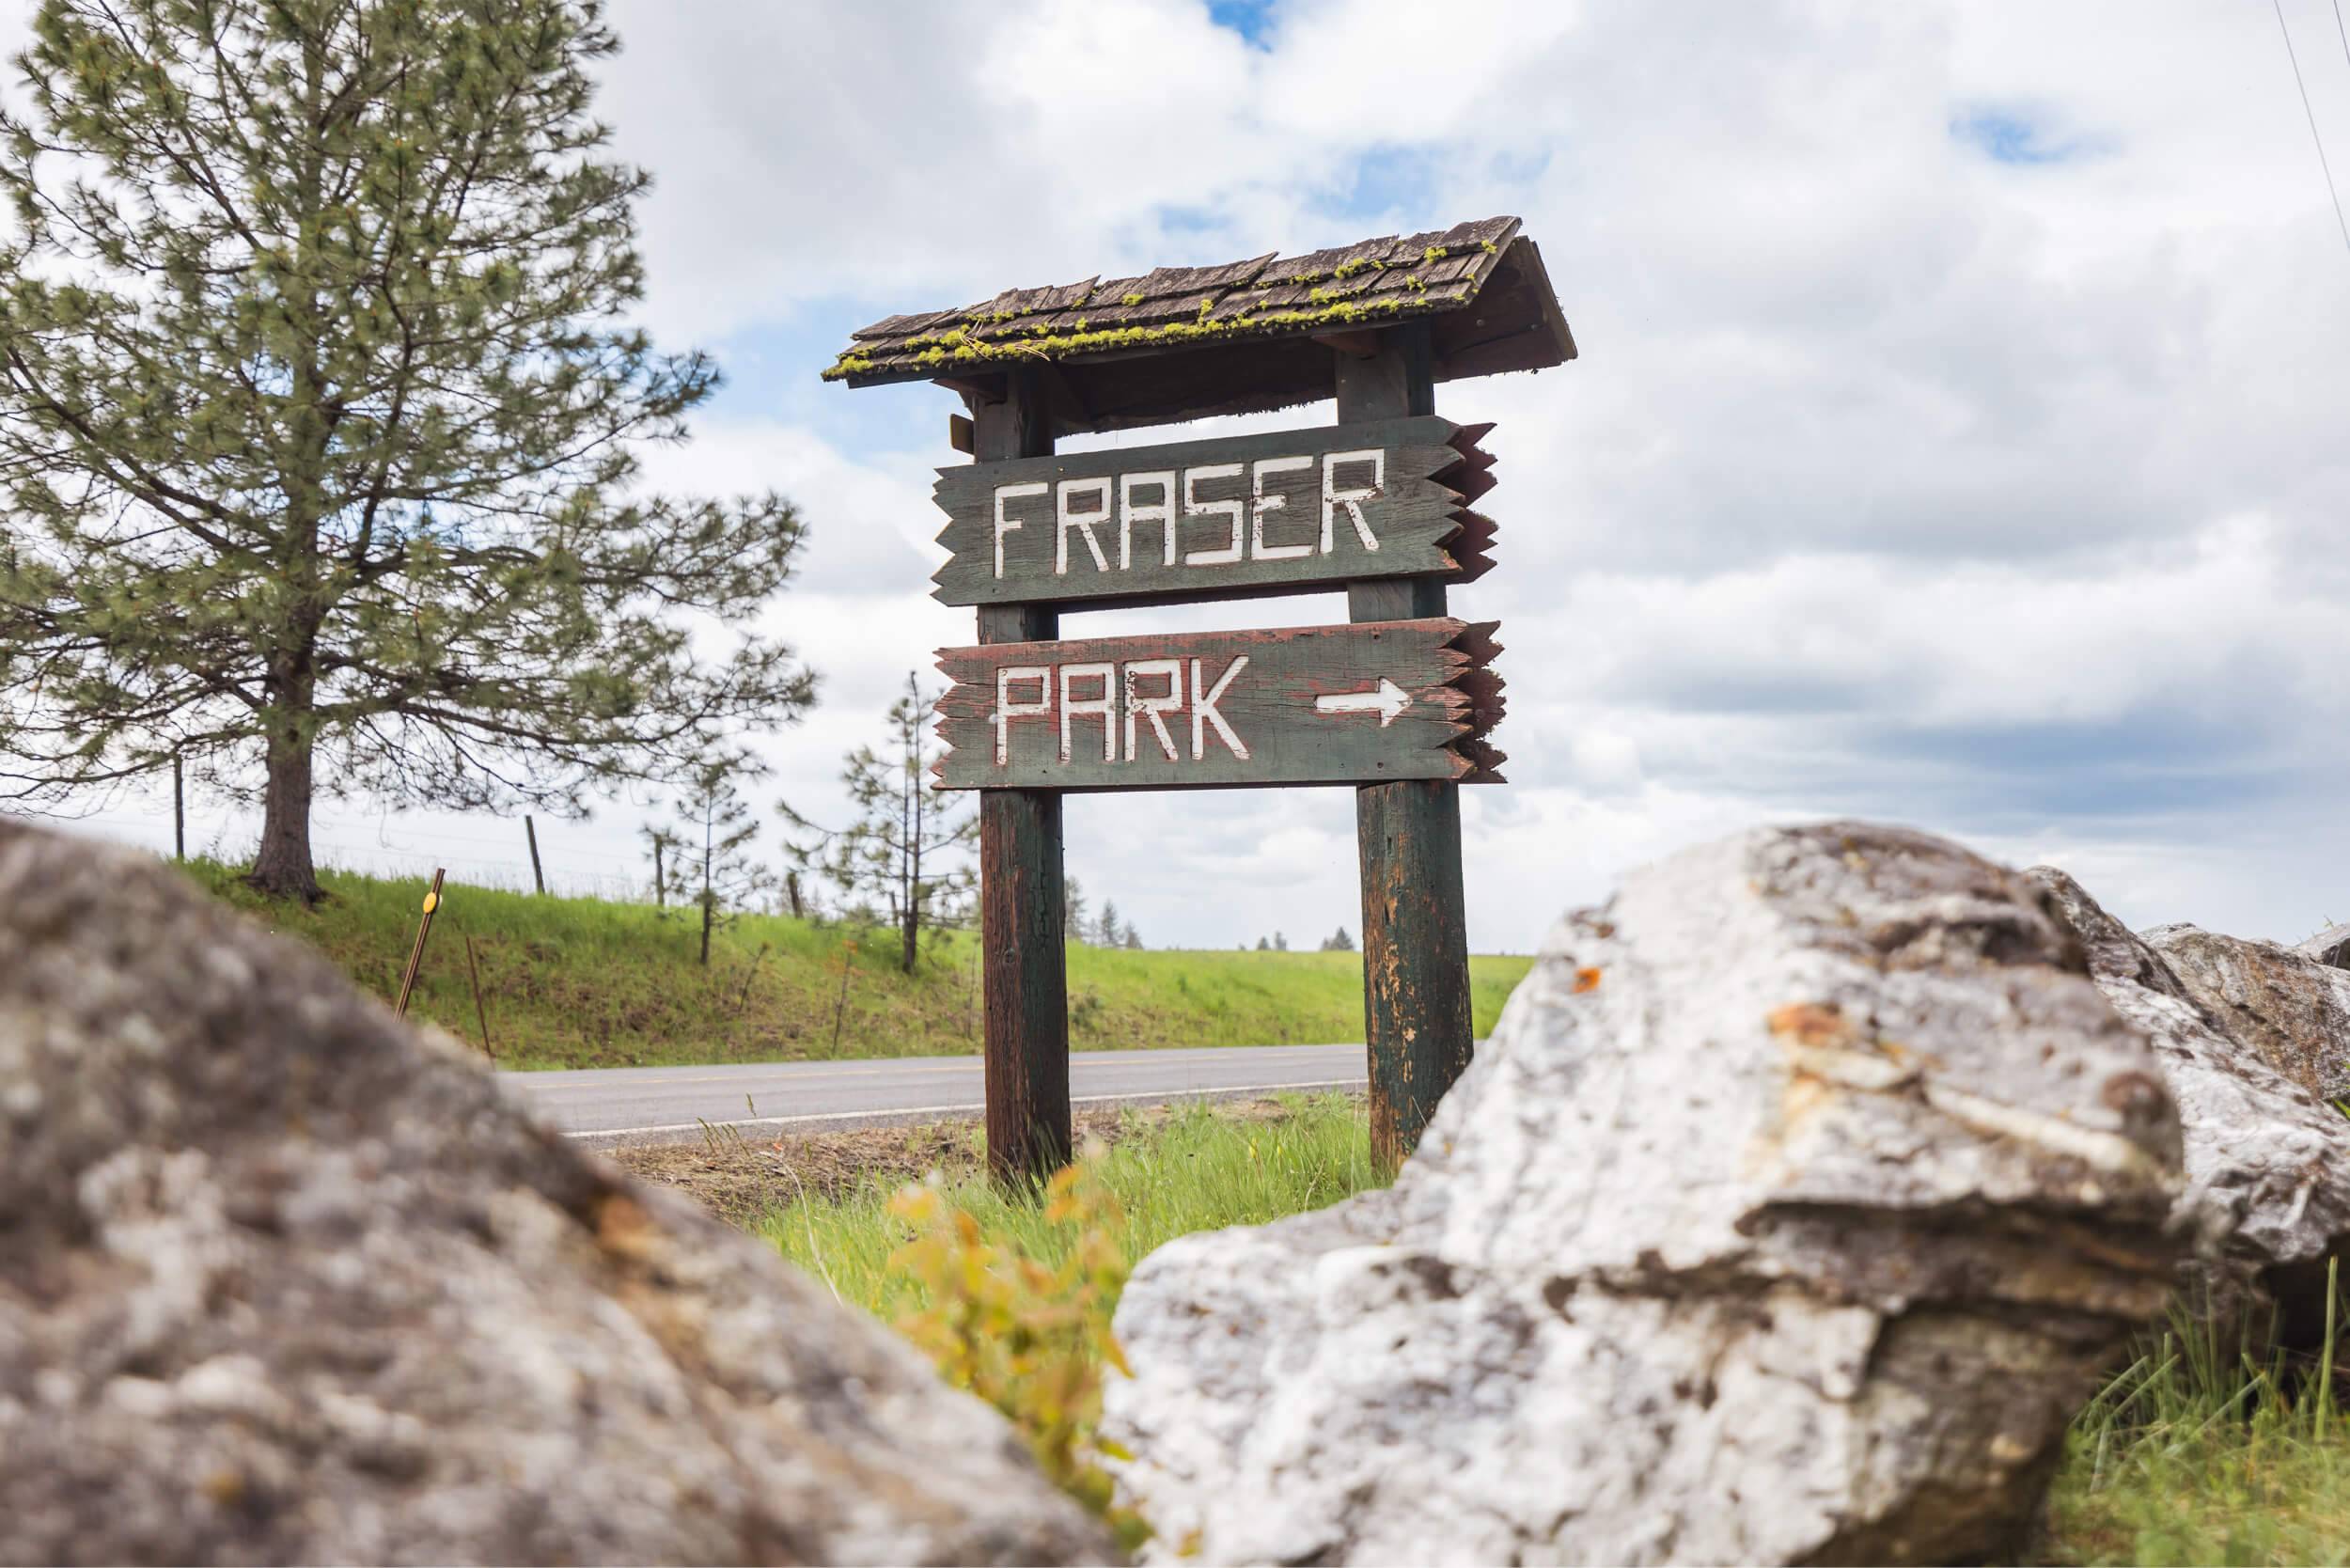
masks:
MULTIPOLYGON (((1426 322, 1379 334, 1377 353, 1335 350, 1337 416, 1436 411, 1426 322)), ((1438 578, 1347 588, 1349 621, 1445 614, 1438 578)), ((1363 1030, 1370 1048, 1370 1147, 1389 1168, 1419 1145, 1436 1103, 1469 1067, 1469 917, 1462 893, 1462 802, 1452 783, 1363 785, 1354 795, 1363 872, 1363 1030)))

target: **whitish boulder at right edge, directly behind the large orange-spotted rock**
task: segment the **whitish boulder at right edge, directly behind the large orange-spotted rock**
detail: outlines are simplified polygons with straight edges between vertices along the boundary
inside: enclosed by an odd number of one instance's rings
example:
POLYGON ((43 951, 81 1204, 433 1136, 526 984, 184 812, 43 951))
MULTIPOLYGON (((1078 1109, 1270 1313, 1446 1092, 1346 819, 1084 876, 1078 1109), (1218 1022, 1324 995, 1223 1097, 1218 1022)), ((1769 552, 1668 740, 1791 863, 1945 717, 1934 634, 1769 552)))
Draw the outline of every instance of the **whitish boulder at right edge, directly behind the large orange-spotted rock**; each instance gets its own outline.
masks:
MULTIPOLYGON (((2230 1340, 2242 1314, 2251 1319, 2247 1328, 2265 1333, 2265 1309, 2275 1305, 2282 1340, 2315 1345, 2324 1335, 2326 1258, 2350 1251, 2350 1119, 2277 1070, 2270 1025, 2244 1037, 2228 1032, 2221 1020, 2242 1013, 2207 1013, 2167 954, 2131 936, 2077 882, 2044 865, 2026 875, 2049 891, 2080 936, 2089 973, 2115 1011, 2160 1053, 2186 1133, 2186 1211, 2216 1244, 2193 1265, 2207 1288, 2200 1307, 2223 1321, 2221 1338, 2230 1340)), ((2171 950, 2200 957, 2230 945, 2261 947, 2193 926, 2164 931, 2174 933, 2171 950), (2178 938, 2181 931, 2195 936, 2178 938)), ((2216 969, 2221 964, 2197 973, 2209 980, 2216 969)), ((2228 961, 2225 969, 2244 973, 2249 964, 2228 961)), ((2294 985, 2308 985, 2308 976, 2296 976, 2294 985)), ((2319 1056, 2308 1044, 2282 1051, 2284 1060, 2319 1056)))

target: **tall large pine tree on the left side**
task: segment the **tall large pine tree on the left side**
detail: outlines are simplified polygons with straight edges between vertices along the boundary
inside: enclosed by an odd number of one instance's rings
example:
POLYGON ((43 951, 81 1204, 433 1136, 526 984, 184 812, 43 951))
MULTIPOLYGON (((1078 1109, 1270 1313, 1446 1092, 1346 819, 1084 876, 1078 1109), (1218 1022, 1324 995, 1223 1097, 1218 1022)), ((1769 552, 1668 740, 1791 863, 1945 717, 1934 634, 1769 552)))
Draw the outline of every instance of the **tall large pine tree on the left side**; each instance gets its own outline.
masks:
POLYGON ((602 0, 42 0, 0 110, 0 792, 169 771, 576 809, 813 698, 698 651, 790 576, 778 496, 637 484, 719 383, 623 317, 646 174, 602 0))

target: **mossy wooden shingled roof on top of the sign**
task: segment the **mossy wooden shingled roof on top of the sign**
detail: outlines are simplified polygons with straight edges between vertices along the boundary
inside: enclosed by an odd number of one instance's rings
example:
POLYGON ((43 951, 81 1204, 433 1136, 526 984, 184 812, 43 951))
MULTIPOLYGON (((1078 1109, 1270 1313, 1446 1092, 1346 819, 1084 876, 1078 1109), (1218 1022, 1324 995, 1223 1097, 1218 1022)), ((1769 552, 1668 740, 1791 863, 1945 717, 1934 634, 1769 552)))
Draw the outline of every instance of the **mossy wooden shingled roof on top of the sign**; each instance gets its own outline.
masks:
POLYGON ((1332 343, 1412 320, 1431 324, 1438 381, 1574 357, 1535 242, 1518 219, 1483 219, 891 315, 851 334, 825 378, 987 390, 1013 367, 1043 364, 1058 430, 1121 430, 1328 397, 1332 343))

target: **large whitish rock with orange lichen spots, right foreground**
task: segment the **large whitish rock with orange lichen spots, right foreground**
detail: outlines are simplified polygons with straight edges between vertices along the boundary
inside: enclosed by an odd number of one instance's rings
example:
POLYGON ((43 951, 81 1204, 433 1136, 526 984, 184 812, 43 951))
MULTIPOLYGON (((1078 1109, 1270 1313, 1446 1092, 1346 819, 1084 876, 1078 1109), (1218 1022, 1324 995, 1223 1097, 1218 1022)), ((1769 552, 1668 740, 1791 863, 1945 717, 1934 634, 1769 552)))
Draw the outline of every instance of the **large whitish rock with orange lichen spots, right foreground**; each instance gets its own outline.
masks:
POLYGON ((2178 1190, 2037 889, 1758 832, 1560 924, 1394 1192, 1152 1253, 1112 1436, 1168 1559, 1983 1559, 2178 1190))

